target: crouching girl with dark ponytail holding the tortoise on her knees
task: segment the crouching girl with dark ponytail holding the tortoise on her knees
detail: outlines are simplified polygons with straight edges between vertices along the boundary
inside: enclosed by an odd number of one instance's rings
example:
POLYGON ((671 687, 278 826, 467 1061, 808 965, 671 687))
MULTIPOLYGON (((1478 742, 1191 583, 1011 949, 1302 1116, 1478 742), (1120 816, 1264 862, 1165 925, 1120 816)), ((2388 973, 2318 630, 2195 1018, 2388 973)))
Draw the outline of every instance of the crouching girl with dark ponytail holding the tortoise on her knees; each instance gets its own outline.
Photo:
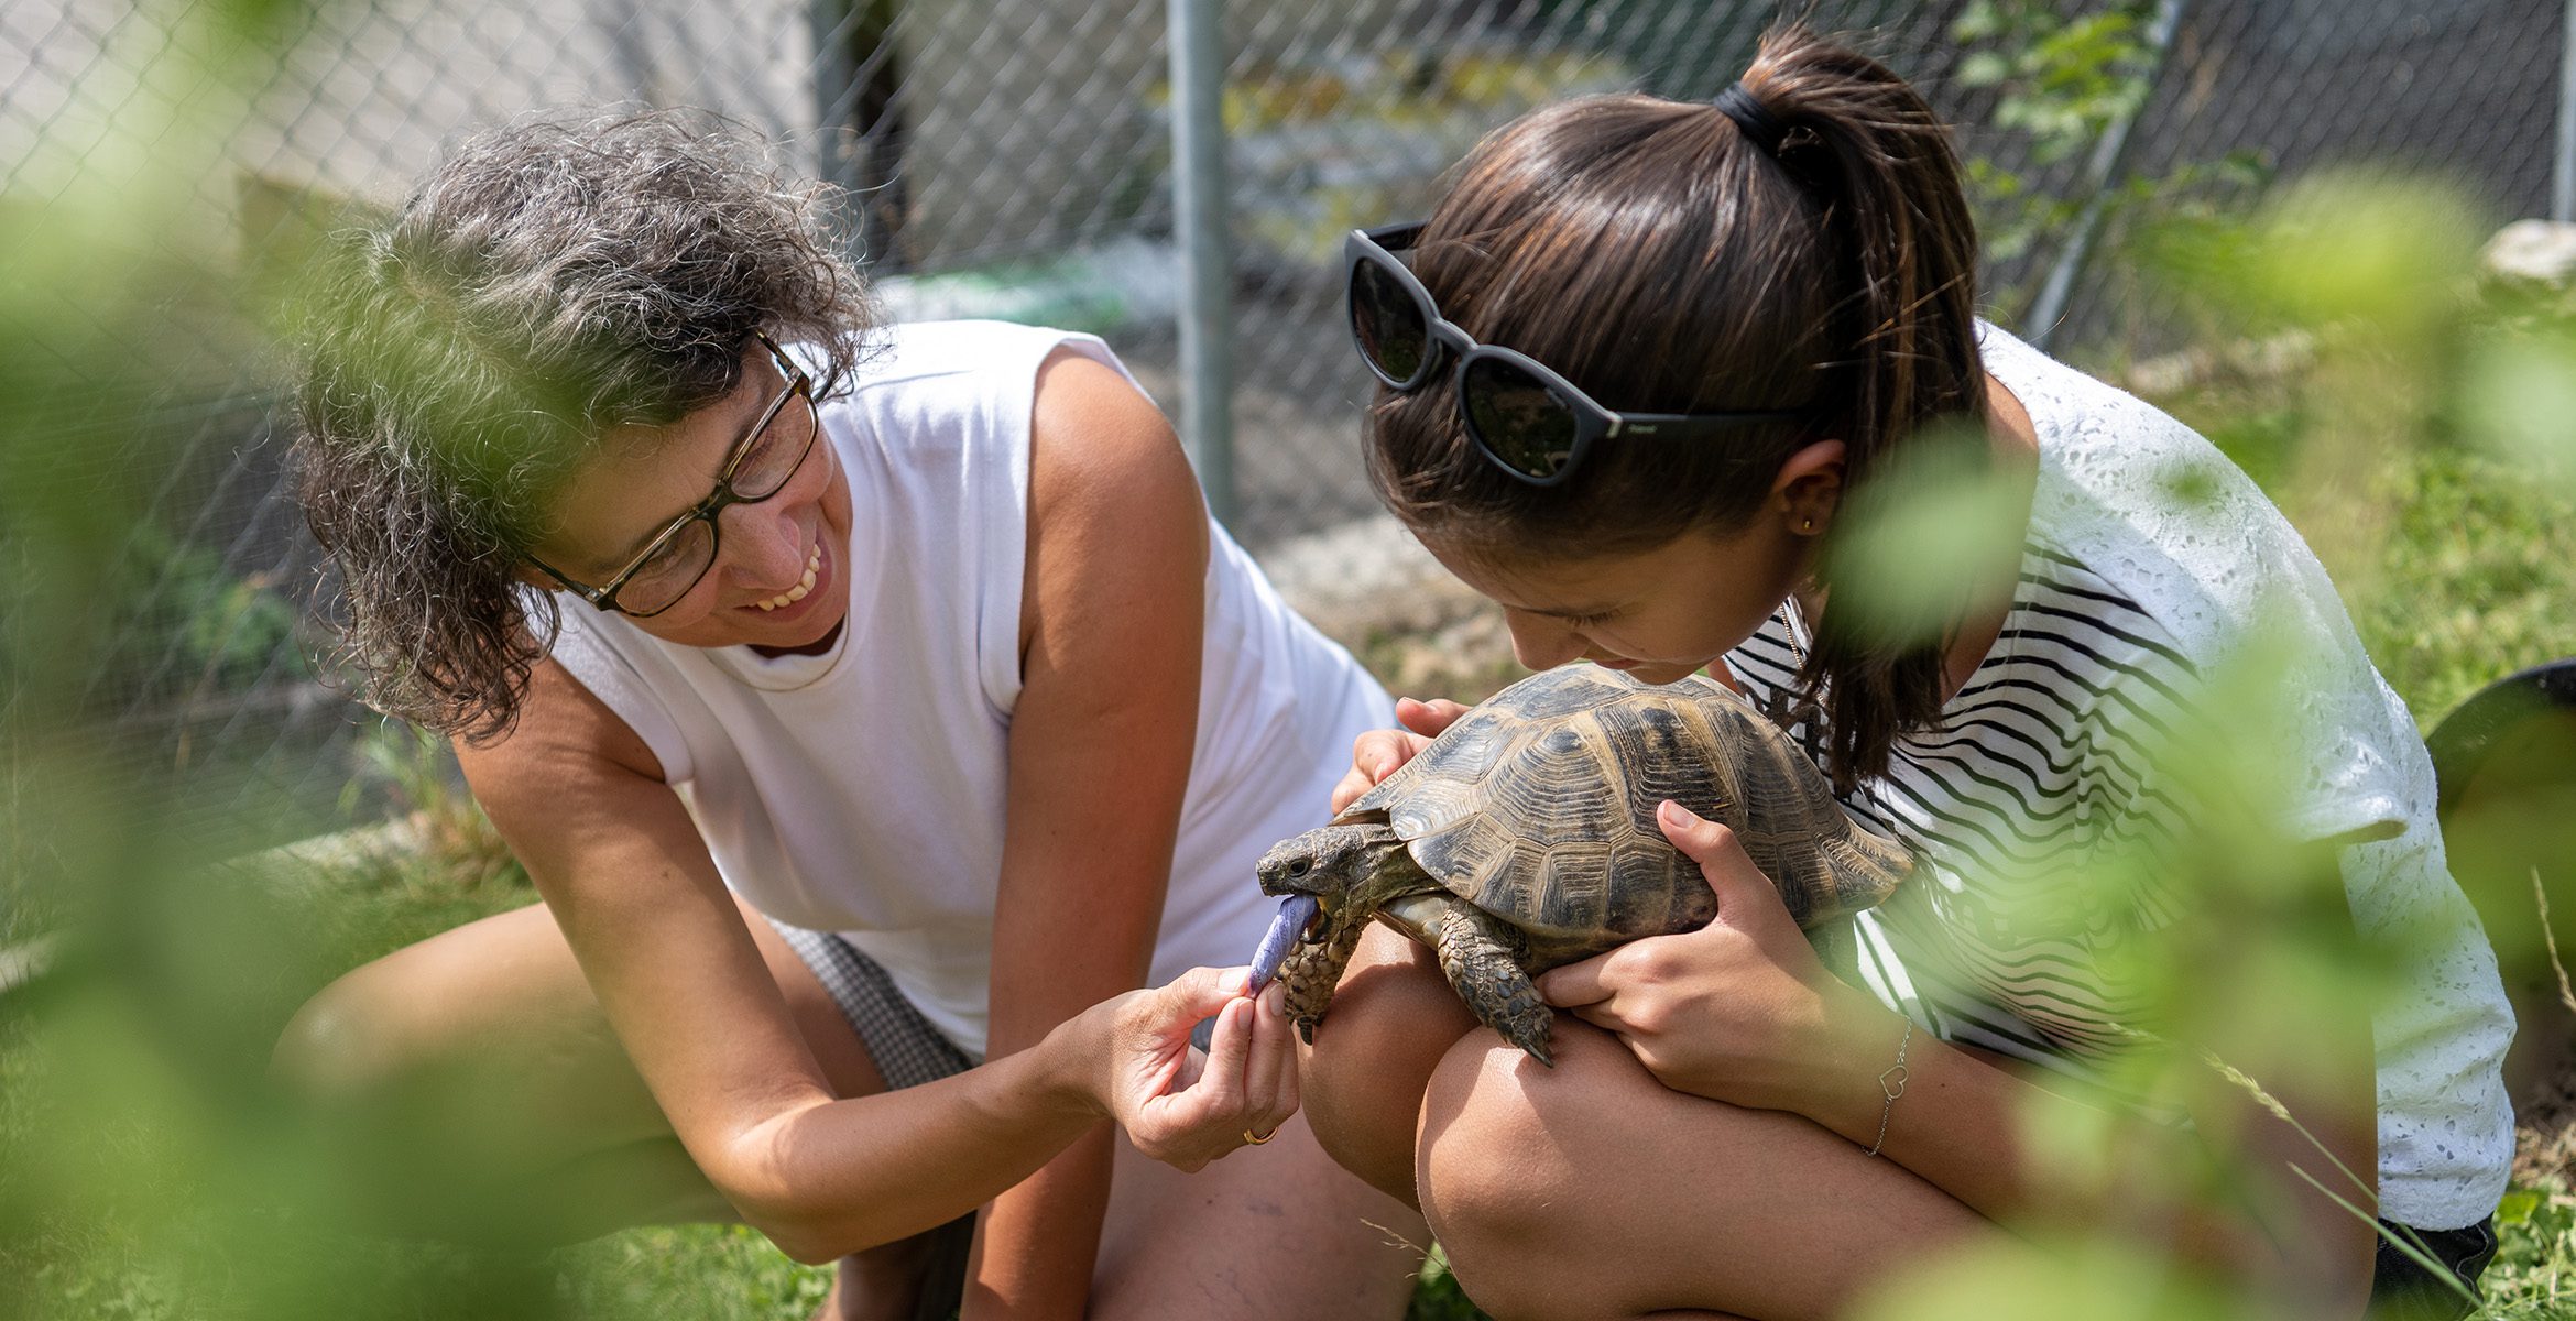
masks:
MULTIPOLYGON (((1553 1069, 1370 932, 1314 1038, 1309 1118, 1422 1205, 1481 1306, 1829 1316, 2045 1226, 2300 1313, 2468 1308, 2512 1020, 2414 726, 2244 474, 1976 319, 1976 234, 1919 93, 1780 28, 1713 103, 1504 126, 1427 221, 1352 234, 1350 263, 1383 384, 1370 474, 1504 608, 1520 662, 1708 670, 1917 855, 1811 942, 1723 827, 1667 803, 1718 917, 1546 973, 1553 1069), (1855 528, 1927 507, 1932 471, 1989 492, 2002 554, 1927 610, 1855 528), (2277 734, 2221 708, 2257 626, 2293 659, 2277 734), (2280 765, 2264 821, 2321 886, 2231 888, 2259 868, 2208 832, 2241 801, 2159 760, 2221 726, 2280 765), (2231 981, 2311 930, 2393 991, 2231 981), (2187 994, 2151 986, 2184 966, 2187 994), (2040 1133, 2110 1138, 2071 1161, 2040 1133)), ((1342 803, 1455 706, 1399 713, 1342 803)))

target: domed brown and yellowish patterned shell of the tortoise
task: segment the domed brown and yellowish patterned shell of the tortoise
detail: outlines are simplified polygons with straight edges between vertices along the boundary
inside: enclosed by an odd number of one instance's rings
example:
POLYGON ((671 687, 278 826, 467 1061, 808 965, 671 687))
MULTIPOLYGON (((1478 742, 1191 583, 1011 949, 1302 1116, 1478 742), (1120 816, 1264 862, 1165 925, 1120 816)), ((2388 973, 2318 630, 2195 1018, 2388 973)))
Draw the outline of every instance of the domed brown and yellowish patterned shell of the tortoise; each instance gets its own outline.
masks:
POLYGON ((1432 881, 1528 932, 1533 960, 1553 966, 1716 914, 1700 868, 1654 821, 1664 798, 1734 829, 1801 927, 1878 904, 1911 870, 1726 685, 1646 685, 1597 664, 1494 693, 1340 819, 1383 816, 1432 881))

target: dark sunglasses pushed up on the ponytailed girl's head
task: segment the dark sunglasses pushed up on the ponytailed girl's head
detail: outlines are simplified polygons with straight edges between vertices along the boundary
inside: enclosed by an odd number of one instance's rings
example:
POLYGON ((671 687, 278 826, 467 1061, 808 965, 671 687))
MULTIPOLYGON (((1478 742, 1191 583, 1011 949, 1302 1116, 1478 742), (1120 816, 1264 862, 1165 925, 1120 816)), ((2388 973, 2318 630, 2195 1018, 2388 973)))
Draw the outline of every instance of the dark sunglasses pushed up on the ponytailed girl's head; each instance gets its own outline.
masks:
POLYGON ((1468 440, 1502 471, 1553 487, 1574 474, 1597 440, 1623 435, 1695 440, 1749 422, 1785 422, 1795 412, 1610 412, 1528 353, 1479 345, 1440 319, 1440 306, 1396 252, 1422 242, 1422 224, 1352 229, 1350 337, 1368 371, 1394 391, 1422 389, 1440 353, 1458 358, 1458 420, 1468 440))

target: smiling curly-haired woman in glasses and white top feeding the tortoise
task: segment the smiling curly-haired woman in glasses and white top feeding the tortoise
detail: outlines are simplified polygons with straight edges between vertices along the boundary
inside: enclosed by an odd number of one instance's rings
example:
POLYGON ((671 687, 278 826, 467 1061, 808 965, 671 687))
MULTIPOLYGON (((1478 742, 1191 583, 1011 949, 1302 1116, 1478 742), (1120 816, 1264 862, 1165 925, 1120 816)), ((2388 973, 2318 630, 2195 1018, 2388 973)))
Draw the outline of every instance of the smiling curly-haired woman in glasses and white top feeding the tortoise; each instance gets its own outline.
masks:
POLYGON ((314 299, 348 657, 544 904, 343 976, 281 1074, 443 1233, 739 1215, 904 1316, 984 1205, 966 1316, 1399 1313, 1409 1213, 1291 1118, 1275 994, 1190 971, 1386 695, 1097 340, 878 327, 822 203, 528 121, 314 299), (1185 1179, 1103 1115, 1260 1146, 1185 1179))

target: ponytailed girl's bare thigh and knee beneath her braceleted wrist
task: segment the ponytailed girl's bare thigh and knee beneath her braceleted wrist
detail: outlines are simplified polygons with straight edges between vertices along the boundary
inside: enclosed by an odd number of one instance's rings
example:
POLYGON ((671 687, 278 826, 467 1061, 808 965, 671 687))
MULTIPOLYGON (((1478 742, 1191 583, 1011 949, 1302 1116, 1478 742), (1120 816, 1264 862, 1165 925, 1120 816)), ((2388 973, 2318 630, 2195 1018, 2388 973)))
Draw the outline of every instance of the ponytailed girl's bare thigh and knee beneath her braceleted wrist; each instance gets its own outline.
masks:
POLYGON ((1994 1239, 1842 1136, 1672 1092, 1566 1017, 1556 1069, 1494 1038, 1443 1056, 1417 1182, 1458 1282, 1512 1318, 1839 1316, 1922 1254, 1994 1239))

